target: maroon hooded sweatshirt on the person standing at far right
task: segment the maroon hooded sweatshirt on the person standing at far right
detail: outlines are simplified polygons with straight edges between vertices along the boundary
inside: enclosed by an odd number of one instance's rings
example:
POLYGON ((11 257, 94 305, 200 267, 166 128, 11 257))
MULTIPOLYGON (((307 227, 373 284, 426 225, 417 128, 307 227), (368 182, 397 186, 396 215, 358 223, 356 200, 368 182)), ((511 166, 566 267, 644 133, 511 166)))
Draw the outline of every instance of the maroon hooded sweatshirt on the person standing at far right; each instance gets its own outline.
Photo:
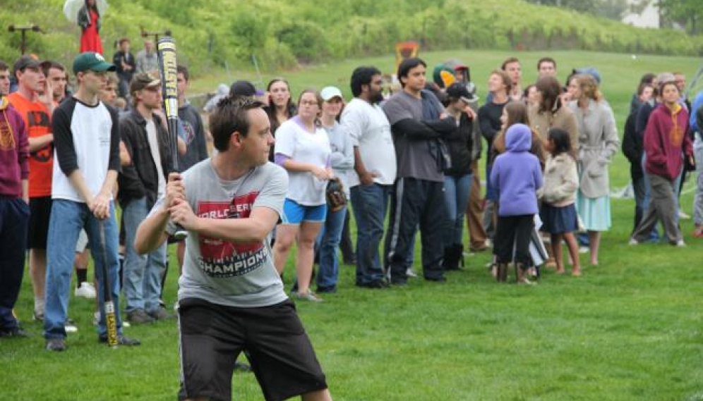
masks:
POLYGON ((688 132, 688 112, 680 104, 675 110, 659 104, 651 112, 644 130, 647 173, 674 180, 683 167, 683 158, 693 154, 688 132))

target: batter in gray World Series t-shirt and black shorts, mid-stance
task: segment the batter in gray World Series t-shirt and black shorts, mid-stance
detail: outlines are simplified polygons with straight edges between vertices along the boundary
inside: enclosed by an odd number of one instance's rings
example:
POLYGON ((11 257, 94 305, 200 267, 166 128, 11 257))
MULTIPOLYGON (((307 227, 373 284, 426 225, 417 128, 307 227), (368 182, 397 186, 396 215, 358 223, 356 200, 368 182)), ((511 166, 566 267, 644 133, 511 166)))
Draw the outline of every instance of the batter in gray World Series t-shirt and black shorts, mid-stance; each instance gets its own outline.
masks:
POLYGON ((259 101, 222 99, 210 116, 218 152, 171 173, 166 195, 139 226, 135 247, 160 247, 188 230, 178 315, 179 400, 232 400, 246 352, 266 400, 331 400, 320 364, 273 265, 270 235, 288 187, 268 162, 274 140, 259 101))

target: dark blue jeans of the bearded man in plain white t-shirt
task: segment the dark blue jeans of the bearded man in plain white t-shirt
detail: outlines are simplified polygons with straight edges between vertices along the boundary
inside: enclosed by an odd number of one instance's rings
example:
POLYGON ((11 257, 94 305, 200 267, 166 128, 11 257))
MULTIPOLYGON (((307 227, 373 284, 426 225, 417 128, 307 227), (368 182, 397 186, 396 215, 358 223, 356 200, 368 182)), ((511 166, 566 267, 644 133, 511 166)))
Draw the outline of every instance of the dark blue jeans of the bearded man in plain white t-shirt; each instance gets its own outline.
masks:
POLYGON ((356 218, 356 284, 383 280, 378 245, 383 237, 385 214, 392 185, 351 187, 351 205, 356 218))

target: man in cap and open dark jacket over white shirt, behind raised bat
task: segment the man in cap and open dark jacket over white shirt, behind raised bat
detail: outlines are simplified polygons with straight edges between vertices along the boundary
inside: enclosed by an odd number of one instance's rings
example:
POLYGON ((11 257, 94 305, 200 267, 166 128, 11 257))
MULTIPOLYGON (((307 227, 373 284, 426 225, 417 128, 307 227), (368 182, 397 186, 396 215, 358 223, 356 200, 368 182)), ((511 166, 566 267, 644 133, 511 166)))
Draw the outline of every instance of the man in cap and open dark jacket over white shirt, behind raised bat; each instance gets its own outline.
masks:
POLYGON ((134 249, 134 237, 156 199, 164 195, 172 160, 168 132, 155 113, 161 108, 160 80, 148 73, 138 73, 132 79, 130 92, 133 109, 120 118, 119 125, 131 164, 124 166, 119 175, 119 201, 126 232, 127 319, 139 324, 169 317, 159 304, 167 247, 164 244, 140 255, 134 249))

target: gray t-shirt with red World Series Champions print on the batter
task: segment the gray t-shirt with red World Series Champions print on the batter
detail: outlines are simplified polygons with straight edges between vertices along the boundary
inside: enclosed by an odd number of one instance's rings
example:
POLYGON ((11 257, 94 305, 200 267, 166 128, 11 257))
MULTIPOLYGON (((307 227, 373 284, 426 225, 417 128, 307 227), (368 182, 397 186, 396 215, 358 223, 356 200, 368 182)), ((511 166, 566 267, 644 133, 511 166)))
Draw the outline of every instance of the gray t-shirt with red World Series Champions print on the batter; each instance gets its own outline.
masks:
MULTIPOLYGON (((196 215, 206 218, 246 218, 257 207, 282 213, 288 175, 267 163, 234 181, 221 180, 205 159, 183 174, 186 199, 196 215)), ((154 206, 162 207, 164 199, 154 206)), ((155 210, 152 209, 152 212, 155 210)), ((176 227, 169 220, 167 232, 176 227)), ((258 243, 234 243, 188 233, 179 300, 200 298, 232 307, 266 307, 287 295, 273 265, 270 238, 258 243)))

